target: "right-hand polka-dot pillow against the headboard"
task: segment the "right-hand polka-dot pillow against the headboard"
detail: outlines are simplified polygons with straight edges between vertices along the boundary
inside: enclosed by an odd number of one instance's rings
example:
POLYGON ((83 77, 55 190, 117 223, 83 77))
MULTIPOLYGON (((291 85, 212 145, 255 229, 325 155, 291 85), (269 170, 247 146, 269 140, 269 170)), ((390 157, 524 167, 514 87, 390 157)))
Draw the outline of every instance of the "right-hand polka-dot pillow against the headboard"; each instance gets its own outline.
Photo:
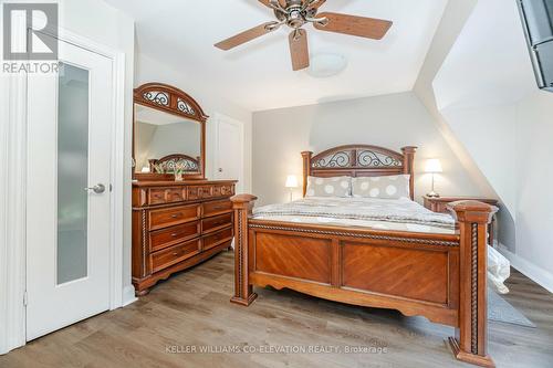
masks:
POLYGON ((400 199, 409 196, 410 175, 353 178, 353 197, 400 199))

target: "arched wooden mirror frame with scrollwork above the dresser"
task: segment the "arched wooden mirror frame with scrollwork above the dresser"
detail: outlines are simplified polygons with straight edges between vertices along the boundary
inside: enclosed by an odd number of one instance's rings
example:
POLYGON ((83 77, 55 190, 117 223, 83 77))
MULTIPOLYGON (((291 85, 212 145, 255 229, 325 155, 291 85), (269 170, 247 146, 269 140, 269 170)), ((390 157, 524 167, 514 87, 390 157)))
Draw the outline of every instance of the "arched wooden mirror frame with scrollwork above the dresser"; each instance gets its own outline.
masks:
MULTIPOLYGON (((206 179, 206 122, 209 118, 201 106, 184 91, 164 83, 146 83, 134 90, 134 104, 155 108, 168 114, 198 122, 201 125, 199 172, 185 174, 185 179, 206 179)), ((134 108, 134 106, 133 106, 134 108)), ((135 114, 133 113, 133 162, 135 162, 135 114)), ((178 154, 178 153, 175 153, 178 154)), ((133 179, 145 180, 174 180, 173 174, 135 172, 133 165, 133 179)))

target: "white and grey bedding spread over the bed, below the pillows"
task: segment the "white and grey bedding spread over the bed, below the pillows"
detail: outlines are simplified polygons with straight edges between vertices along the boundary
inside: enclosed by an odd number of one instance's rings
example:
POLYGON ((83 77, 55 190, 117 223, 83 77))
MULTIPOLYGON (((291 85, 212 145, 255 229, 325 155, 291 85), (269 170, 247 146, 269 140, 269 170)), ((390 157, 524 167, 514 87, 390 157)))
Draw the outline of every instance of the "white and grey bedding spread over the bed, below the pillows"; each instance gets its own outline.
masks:
MULTIPOLYGON (((424 233, 455 233, 450 214, 435 213, 409 199, 310 197, 283 204, 255 208, 253 218, 298 223, 363 227, 424 233)), ((503 282, 510 262, 488 246, 488 278, 499 293, 508 293, 503 282)))

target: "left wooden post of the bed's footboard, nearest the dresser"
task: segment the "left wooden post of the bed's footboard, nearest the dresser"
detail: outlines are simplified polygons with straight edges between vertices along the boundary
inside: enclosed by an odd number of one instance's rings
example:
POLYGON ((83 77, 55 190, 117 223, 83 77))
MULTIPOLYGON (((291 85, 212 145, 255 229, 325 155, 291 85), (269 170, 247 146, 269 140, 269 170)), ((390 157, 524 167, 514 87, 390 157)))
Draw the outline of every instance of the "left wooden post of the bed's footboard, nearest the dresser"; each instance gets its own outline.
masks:
POLYGON ((234 210, 234 296, 230 302, 243 306, 249 306, 258 297, 249 282, 248 266, 248 219, 257 199, 250 194, 239 194, 230 199, 234 210))

